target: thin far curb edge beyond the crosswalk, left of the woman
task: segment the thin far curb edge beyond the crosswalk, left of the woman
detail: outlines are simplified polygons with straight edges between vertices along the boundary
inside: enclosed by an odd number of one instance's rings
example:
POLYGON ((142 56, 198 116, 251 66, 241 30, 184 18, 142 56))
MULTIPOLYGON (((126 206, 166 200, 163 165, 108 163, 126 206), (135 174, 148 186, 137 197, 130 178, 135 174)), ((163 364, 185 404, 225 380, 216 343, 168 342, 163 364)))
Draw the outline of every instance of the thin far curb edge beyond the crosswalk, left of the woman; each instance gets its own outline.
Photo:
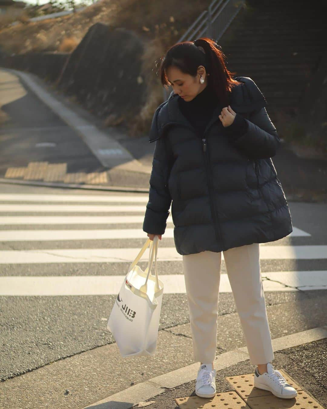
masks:
POLYGON ((101 190, 101 191, 126 192, 126 193, 149 193, 149 189, 142 188, 142 187, 103 186, 103 185, 94 186, 92 184, 38 182, 38 181, 33 181, 33 180, 5 179, 5 178, 0 178, 0 183, 23 184, 27 186, 58 187, 58 188, 63 188, 63 189, 101 190))

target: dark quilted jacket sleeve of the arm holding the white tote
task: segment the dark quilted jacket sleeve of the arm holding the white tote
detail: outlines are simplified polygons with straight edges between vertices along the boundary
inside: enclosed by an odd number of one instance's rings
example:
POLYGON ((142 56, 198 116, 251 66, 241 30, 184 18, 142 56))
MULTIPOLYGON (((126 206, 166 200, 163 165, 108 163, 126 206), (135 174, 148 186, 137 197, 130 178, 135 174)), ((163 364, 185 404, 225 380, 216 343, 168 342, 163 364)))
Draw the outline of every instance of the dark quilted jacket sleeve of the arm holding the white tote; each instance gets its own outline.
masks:
POLYGON ((155 141, 152 171, 150 175, 149 201, 143 221, 143 231, 150 234, 164 234, 166 220, 172 202, 168 190, 169 153, 166 141, 161 137, 155 141))

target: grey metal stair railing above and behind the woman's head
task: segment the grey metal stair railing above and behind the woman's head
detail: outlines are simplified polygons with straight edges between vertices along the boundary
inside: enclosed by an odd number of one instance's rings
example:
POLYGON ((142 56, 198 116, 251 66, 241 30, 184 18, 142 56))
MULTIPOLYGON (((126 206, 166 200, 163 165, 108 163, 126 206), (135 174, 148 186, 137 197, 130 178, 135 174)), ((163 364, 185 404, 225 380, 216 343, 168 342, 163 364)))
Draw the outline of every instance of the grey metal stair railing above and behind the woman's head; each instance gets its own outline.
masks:
MULTIPOLYGON (((201 37, 209 37, 218 42, 244 5, 244 0, 213 0, 208 9, 199 15, 177 43, 194 41, 201 37)), ((171 87, 168 90, 164 88, 164 101, 168 99, 171 92, 171 87)))

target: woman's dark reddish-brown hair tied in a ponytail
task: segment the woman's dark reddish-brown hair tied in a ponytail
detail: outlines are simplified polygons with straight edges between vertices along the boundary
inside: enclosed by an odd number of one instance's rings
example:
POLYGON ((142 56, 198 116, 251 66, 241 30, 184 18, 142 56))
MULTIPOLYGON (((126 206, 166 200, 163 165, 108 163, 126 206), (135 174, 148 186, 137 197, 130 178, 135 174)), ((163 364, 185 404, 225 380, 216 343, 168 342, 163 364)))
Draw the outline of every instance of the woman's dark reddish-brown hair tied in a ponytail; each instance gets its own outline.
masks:
POLYGON ((235 72, 227 70, 225 65, 226 56, 221 51, 221 46, 208 37, 202 37, 195 41, 183 41, 172 45, 161 61, 159 76, 161 84, 168 89, 169 81, 166 70, 170 66, 177 67, 181 72, 196 76, 197 68, 203 65, 208 75, 208 86, 213 87, 217 97, 224 104, 229 105, 229 95, 233 86, 240 84, 231 76, 235 72), (199 47, 204 49, 201 51, 199 47))

